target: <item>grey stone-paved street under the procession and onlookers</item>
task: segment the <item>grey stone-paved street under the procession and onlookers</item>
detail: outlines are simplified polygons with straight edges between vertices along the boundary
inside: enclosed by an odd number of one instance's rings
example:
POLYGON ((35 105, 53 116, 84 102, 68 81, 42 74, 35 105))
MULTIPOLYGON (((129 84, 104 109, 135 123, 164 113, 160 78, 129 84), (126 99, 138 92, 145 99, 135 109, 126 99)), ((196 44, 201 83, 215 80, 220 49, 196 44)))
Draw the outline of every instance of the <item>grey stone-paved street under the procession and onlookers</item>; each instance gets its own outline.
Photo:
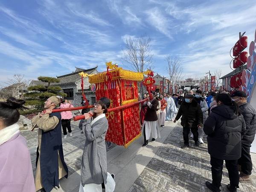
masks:
MULTIPOLYGON (((58 192, 78 192, 80 184, 81 156, 84 135, 78 128, 79 122, 71 122, 73 137, 62 138, 64 159, 69 169, 68 179, 62 178, 58 192)), ((22 131, 28 140, 33 171, 37 148, 37 133, 22 131)), ((142 148, 143 137, 135 140, 128 148, 110 145, 107 147, 108 172, 116 175, 116 192, 209 192, 205 181, 211 181, 211 166, 207 142, 200 147, 190 140, 189 149, 181 149, 182 127, 169 121, 160 128, 161 139, 142 148)), ((62 136, 63 137, 63 136, 62 136)), ((255 155, 253 155, 255 158, 255 155)), ((239 191, 256 191, 256 167, 253 167, 251 183, 240 183, 239 191)), ((229 183, 227 170, 223 169, 222 191, 229 183)))

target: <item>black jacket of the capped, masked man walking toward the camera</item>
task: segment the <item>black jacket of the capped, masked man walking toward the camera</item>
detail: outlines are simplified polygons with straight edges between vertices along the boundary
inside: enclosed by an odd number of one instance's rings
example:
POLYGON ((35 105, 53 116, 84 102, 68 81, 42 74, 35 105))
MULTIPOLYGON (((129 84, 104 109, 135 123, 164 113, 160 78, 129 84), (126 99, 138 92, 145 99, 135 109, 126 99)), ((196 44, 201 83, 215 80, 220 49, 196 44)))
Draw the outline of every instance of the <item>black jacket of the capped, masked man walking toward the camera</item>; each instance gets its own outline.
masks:
POLYGON ((203 113, 200 104, 193 99, 191 103, 183 101, 180 105, 176 120, 181 117, 181 125, 183 127, 197 128, 198 125, 203 126, 203 113))

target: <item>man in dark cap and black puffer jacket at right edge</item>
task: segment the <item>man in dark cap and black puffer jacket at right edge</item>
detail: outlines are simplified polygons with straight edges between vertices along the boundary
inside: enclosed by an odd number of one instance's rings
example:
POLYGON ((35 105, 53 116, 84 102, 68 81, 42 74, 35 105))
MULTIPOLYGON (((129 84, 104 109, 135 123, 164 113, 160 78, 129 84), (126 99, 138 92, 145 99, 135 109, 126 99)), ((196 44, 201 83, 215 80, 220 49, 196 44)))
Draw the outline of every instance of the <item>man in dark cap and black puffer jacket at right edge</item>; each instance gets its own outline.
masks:
POLYGON ((251 181, 250 175, 252 174, 253 163, 250 157, 250 147, 253 143, 256 131, 256 116, 255 109, 247 103, 247 95, 243 91, 235 91, 231 94, 232 100, 239 106, 241 114, 244 116, 246 124, 246 132, 242 138, 242 153, 241 158, 238 160, 239 164, 239 181, 251 181))

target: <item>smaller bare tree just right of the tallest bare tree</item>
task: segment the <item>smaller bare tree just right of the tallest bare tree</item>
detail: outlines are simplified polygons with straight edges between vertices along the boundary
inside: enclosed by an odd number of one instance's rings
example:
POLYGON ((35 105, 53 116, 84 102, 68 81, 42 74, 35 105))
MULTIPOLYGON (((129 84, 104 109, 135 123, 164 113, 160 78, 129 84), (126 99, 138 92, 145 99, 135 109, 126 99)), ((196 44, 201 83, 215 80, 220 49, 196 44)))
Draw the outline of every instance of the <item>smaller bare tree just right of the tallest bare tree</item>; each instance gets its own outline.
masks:
POLYGON ((183 68, 181 67, 180 58, 172 58, 171 55, 167 56, 165 59, 168 63, 166 71, 169 74, 170 81, 176 82, 183 78, 183 68))

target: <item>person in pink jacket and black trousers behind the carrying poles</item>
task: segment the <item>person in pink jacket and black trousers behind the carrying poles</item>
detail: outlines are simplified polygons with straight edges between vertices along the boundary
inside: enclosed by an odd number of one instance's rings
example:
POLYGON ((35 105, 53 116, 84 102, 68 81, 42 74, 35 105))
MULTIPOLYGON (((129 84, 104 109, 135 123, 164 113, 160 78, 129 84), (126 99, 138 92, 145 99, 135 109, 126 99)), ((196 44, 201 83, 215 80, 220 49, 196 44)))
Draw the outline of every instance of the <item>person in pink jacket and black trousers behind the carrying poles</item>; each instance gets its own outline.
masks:
MULTIPOLYGON (((68 101, 67 99, 63 100, 61 102, 61 109, 65 108, 73 108, 74 106, 68 101)), ((71 119, 73 118, 73 114, 71 111, 62 111, 61 112, 61 125, 62 125, 62 130, 64 134, 64 139, 67 138, 67 130, 70 133, 70 137, 72 137, 72 130, 71 130, 71 119)))

